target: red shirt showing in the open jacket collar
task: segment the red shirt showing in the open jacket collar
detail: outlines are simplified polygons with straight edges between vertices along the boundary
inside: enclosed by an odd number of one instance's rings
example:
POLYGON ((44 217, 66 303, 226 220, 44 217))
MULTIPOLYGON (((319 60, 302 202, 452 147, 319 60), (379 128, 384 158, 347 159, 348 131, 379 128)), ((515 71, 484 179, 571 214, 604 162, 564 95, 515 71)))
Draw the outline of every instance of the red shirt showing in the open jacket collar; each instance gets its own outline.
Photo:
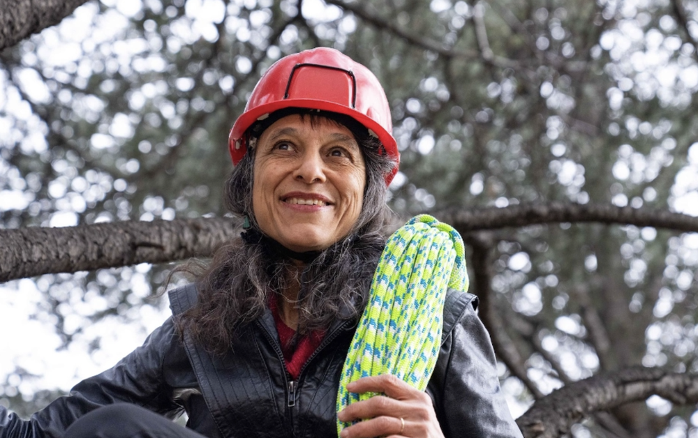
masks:
POLYGON ((284 324, 281 315, 279 315, 279 308, 276 307, 276 299, 273 297, 269 300, 269 309, 272 310, 272 315, 274 315, 276 332, 279 333, 281 352, 283 352, 286 370, 293 379, 297 379, 304 363, 308 361, 311 354, 320 346, 325 332, 314 330, 308 335, 299 338, 297 342, 292 342, 296 331, 284 324))

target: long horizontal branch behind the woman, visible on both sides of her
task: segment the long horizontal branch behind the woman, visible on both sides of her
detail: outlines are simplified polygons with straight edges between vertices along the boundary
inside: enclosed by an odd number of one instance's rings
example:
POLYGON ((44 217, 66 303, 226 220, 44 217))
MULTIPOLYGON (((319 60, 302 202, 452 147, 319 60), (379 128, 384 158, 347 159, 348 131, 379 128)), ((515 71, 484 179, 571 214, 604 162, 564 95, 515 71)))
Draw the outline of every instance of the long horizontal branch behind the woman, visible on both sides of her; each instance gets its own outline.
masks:
MULTIPOLYGON (((602 222, 698 231, 698 218, 692 216, 608 205, 551 203, 448 210, 433 215, 463 233, 555 222, 602 222)), ((179 219, 0 230, 0 282, 44 273, 208 257, 216 246, 235 235, 228 222, 225 218, 179 219)))

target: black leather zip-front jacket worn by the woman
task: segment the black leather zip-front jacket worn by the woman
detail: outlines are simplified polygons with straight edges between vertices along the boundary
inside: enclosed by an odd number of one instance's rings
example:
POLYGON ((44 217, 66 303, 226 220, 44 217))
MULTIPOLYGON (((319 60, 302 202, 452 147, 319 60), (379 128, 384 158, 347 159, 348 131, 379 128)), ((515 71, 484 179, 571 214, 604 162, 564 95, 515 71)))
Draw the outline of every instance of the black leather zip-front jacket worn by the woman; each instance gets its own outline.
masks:
MULTIPOLYGON (((196 299, 193 285, 170 292, 174 315, 196 299)), ((442 345, 427 393, 446 437, 521 437, 500 390, 477 299, 450 291, 442 345)), ((76 418, 129 402, 174 418, 207 437, 336 437, 339 377, 355 326, 334 324, 297 381, 285 371, 271 312, 248 324, 225 356, 211 356, 172 318, 114 368, 77 384, 70 395, 22 421, 0 407, 0 438, 61 437, 76 418)))

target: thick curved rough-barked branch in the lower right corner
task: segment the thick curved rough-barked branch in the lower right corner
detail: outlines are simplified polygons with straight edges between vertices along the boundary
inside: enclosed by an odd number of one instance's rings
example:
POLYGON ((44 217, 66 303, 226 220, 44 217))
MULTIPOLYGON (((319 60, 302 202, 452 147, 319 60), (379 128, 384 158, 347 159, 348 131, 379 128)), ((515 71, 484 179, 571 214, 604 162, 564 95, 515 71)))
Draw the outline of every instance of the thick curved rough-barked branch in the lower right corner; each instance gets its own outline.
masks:
POLYGON ((556 438, 595 411, 659 395, 676 405, 698 402, 698 376, 659 368, 627 368, 569 384, 537 400, 517 424, 526 438, 556 438))

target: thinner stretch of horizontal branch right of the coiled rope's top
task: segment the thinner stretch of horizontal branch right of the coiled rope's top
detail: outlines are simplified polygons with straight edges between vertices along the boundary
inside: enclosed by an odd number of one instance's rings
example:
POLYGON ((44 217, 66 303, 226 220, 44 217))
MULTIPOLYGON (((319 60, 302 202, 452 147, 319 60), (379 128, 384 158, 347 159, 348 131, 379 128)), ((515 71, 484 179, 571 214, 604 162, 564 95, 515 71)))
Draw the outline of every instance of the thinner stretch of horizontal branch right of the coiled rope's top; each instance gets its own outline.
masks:
POLYGON ((698 232, 698 218, 693 216, 664 210, 633 209, 605 204, 551 202, 514 205, 504 209, 494 207, 473 210, 450 209, 435 212, 433 215, 460 232, 561 222, 600 222, 698 232))

